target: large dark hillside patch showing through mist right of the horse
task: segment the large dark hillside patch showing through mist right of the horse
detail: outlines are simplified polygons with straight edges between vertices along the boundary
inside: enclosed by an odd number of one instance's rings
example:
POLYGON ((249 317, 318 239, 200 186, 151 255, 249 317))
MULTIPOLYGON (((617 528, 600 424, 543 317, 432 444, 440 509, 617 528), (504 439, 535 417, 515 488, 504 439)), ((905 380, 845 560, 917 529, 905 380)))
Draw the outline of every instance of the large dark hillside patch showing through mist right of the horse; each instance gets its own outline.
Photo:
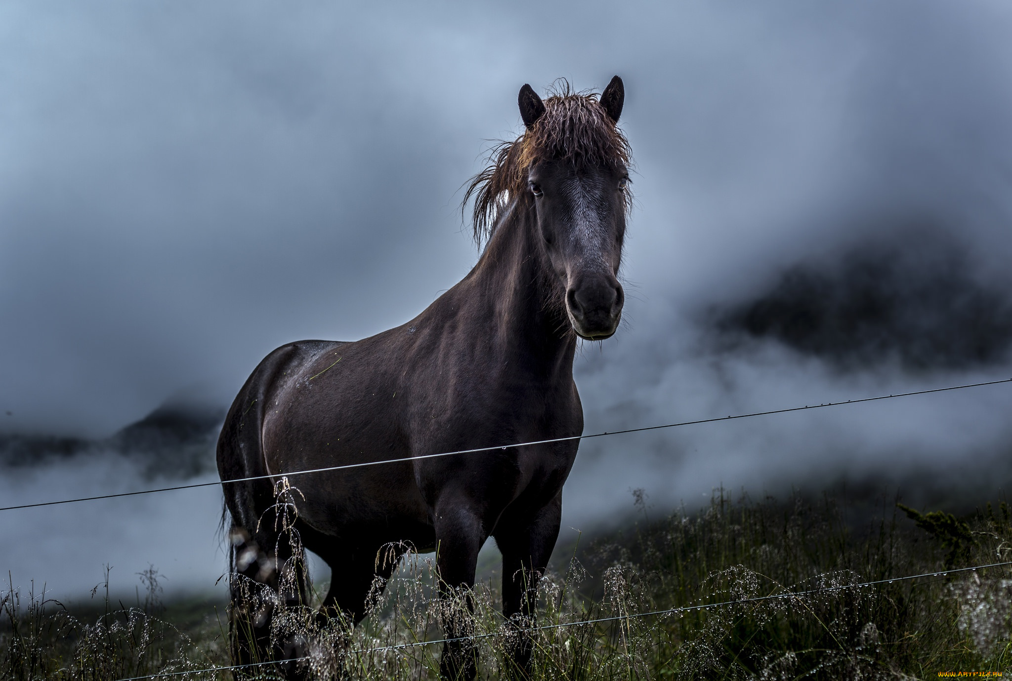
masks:
POLYGON ((1012 288, 978 271, 947 233, 909 227, 833 260, 789 265, 710 319, 727 352, 771 340, 844 371, 1001 366, 1012 345, 1012 288))

